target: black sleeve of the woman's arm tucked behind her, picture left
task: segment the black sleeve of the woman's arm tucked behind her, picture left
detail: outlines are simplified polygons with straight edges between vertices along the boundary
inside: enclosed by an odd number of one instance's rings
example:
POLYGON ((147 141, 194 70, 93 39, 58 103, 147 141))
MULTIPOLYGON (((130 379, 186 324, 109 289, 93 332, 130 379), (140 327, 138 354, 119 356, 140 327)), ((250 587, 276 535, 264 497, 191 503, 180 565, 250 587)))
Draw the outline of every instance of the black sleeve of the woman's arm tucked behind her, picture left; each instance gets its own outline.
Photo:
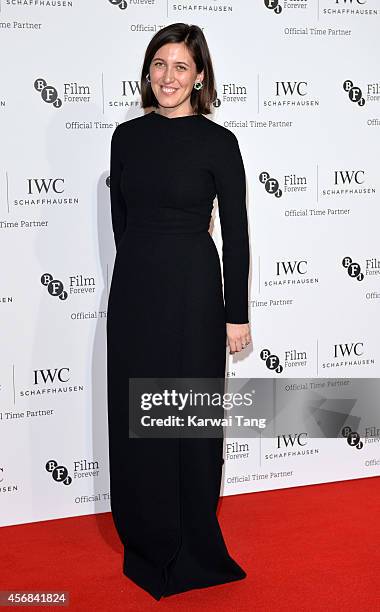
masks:
POLYGON ((110 159, 111 218, 116 249, 127 222, 127 206, 120 187, 122 172, 120 128, 121 125, 118 125, 112 134, 110 159))

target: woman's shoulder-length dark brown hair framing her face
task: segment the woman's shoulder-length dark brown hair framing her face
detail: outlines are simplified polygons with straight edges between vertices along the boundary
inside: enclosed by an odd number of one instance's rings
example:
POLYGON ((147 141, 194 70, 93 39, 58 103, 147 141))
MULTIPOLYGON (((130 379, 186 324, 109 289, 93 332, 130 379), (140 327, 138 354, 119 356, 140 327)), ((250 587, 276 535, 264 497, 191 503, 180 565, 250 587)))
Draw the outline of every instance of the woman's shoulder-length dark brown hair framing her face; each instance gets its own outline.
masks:
POLYGON ((172 23, 162 28, 155 34, 150 41, 141 70, 141 107, 153 106, 158 108, 158 101, 153 93, 150 83, 146 80, 150 64, 157 52, 167 43, 184 42, 191 54, 197 73, 204 70, 203 87, 200 90, 193 88, 190 96, 190 103, 195 113, 209 115, 212 103, 216 99, 214 70, 212 67, 210 51, 200 27, 188 25, 187 23, 172 23))

